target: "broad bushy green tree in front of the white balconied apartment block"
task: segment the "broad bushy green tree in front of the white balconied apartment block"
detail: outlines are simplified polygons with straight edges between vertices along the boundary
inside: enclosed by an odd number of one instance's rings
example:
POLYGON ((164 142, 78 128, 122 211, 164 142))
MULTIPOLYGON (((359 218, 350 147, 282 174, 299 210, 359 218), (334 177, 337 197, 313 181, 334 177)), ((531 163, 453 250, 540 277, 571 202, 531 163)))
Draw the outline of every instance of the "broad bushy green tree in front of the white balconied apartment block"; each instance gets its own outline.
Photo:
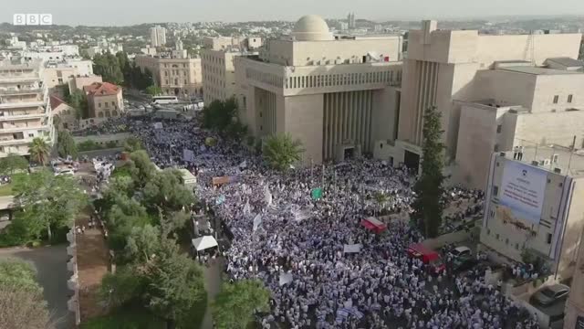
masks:
POLYGON ((52 231, 70 227, 80 209, 87 205, 87 195, 75 179, 53 175, 47 169, 18 176, 13 184, 15 201, 22 208, 16 212, 16 218, 30 228, 27 238, 40 238, 40 229, 44 227, 47 238, 52 240, 52 231))

